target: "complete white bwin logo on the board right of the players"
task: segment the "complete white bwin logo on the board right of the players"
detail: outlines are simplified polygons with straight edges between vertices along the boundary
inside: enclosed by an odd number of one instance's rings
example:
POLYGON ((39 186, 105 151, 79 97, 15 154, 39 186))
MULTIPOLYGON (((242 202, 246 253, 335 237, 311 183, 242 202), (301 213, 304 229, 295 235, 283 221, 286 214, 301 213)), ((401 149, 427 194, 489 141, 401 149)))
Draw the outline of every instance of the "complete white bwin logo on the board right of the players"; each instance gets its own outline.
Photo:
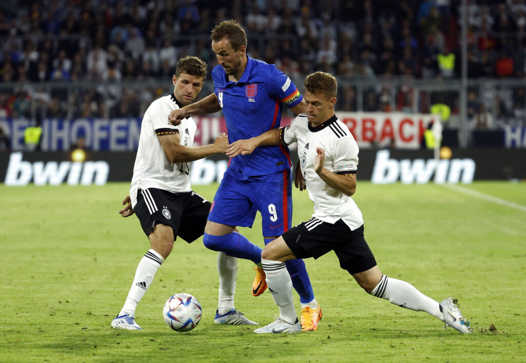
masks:
POLYGON ((389 158, 389 150, 376 153, 375 167, 372 170, 371 182, 375 184, 395 183, 398 179, 403 184, 424 184, 431 181, 443 183, 471 183, 476 164, 473 159, 404 159, 389 158))

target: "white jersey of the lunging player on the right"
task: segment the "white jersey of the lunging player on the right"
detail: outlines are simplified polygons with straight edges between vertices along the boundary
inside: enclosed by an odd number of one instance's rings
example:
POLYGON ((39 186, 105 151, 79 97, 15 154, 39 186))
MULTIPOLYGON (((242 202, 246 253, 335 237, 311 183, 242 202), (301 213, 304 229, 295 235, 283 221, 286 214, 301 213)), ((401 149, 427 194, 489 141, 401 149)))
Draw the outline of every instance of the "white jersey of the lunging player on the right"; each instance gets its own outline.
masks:
POLYGON ((281 140, 289 145, 298 142, 301 172, 307 182, 309 198, 314 202, 314 214, 327 223, 342 219, 351 230, 363 224, 360 209, 355 201, 336 190, 314 171, 316 148, 325 150, 323 167, 337 174, 356 174, 358 169, 358 145, 349 129, 336 116, 318 127, 311 127, 306 114, 300 114, 290 126, 284 127, 281 140))

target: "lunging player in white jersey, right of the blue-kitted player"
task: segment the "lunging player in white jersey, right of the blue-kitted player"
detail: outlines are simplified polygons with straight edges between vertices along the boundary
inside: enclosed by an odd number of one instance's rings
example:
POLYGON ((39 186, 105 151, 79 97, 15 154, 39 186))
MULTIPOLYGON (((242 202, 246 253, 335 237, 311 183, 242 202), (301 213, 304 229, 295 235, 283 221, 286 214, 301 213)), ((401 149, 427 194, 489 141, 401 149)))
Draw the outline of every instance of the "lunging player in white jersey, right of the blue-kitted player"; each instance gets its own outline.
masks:
POLYGON ((456 301, 438 303, 408 284, 380 272, 363 237, 363 218, 351 196, 356 191, 358 145, 349 129, 334 113, 336 78, 316 72, 305 80, 307 114, 279 130, 232 143, 227 155, 250 154, 260 145, 289 145, 298 142, 301 171, 307 183, 314 214, 308 221, 289 229, 271 241, 261 253, 268 288, 279 307, 279 317, 257 333, 295 333, 301 331, 292 300, 290 277, 285 261, 292 258, 315 259, 333 250, 340 267, 347 270, 367 293, 391 304, 425 311, 447 326, 468 334, 469 321, 460 313, 456 301))

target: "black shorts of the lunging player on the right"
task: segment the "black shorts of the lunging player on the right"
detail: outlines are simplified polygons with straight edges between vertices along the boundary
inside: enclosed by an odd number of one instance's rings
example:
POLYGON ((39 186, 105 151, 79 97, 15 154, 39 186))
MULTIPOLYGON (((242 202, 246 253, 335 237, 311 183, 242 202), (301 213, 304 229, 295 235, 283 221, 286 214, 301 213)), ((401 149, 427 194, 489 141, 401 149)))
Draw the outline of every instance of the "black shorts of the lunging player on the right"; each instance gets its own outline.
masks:
POLYGON ((330 224, 311 218, 292 227, 282 237, 297 258, 316 259, 335 251, 340 267, 351 275, 376 266, 375 256, 363 237, 363 225, 351 231, 341 219, 330 224))

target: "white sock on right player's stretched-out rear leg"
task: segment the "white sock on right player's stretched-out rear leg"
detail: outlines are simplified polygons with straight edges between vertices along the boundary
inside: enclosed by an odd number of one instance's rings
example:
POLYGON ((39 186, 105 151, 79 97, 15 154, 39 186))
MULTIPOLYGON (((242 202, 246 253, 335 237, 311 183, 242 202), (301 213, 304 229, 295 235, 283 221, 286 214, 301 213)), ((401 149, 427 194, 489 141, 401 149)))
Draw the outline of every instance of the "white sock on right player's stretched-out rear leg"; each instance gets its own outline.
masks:
POLYGON ((380 283, 372 290, 371 295, 389 300, 389 303, 414 311, 426 311, 429 315, 442 320, 442 311, 438 301, 422 294, 406 281, 388 278, 382 275, 380 283))

